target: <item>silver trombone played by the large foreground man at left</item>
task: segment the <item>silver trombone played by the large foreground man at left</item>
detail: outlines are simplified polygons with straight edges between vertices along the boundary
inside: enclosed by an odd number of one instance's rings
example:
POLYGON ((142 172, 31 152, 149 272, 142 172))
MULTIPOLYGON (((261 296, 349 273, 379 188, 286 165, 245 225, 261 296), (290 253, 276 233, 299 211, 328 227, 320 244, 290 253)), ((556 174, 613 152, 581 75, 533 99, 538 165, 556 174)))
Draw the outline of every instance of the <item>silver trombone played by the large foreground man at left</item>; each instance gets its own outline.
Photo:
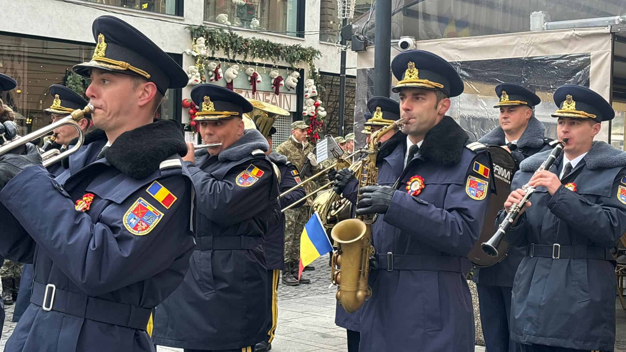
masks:
POLYGON ((78 132, 78 142, 76 142, 76 145, 74 145, 73 148, 68 149, 64 152, 61 152, 58 149, 53 149, 48 150, 48 152, 41 155, 41 160, 44 167, 48 167, 53 163, 59 162, 60 160, 69 157, 69 155, 78 152, 78 149, 83 146, 83 142, 85 142, 85 132, 83 132, 83 129, 80 127, 80 125, 78 125, 76 121, 83 118, 83 116, 85 116, 86 114, 93 113, 93 110, 94 108, 91 103, 87 104, 87 106, 85 106, 83 110, 74 110, 70 115, 61 118, 61 120, 58 120, 57 122, 51 123, 44 128, 39 128, 39 130, 28 133, 28 135, 4 144, 2 147, 0 147, 0 155, 11 152, 11 150, 21 147, 28 142, 31 142, 31 140, 44 137, 45 135, 48 135, 48 133, 53 132, 61 126, 71 125, 72 127, 76 128, 76 131, 78 132))

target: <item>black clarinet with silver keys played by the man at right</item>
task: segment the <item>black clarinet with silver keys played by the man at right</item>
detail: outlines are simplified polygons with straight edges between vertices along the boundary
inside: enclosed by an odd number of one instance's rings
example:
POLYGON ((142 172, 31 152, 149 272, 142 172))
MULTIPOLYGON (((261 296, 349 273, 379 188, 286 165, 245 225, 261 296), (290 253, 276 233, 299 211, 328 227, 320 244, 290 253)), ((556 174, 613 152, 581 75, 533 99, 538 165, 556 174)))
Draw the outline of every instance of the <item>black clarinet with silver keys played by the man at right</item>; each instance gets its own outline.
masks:
MULTIPOLYGON (((535 173, 533 173, 533 176, 536 175, 536 173, 540 171, 550 170, 550 167, 552 167, 552 164, 555 162, 555 160, 557 160, 557 158, 563 152, 563 148, 565 147, 567 140, 568 138, 563 138, 563 140, 557 142, 557 146, 554 147, 550 155, 548 155, 548 158, 543 163, 541 163, 541 166, 535 171, 535 173)), ((523 185, 521 189, 526 191, 526 194, 524 195, 524 197, 520 200, 518 204, 513 204, 511 206, 511 208, 508 211, 508 214, 506 214, 505 219, 502 220, 502 222, 500 223, 500 226, 498 226, 498 230, 496 230, 496 233, 493 234, 493 236, 491 236, 489 241, 484 242, 480 245, 483 252, 485 252, 485 254, 487 254, 490 257, 498 256, 498 247, 500 246, 500 242, 504 238, 506 231, 509 229, 509 227, 511 227, 511 225, 513 225, 513 222, 515 222, 518 215, 520 215, 520 211, 521 209, 524 208, 524 205, 530 199, 530 195, 533 194, 533 192, 535 192, 535 187, 532 187, 529 184, 523 185)))

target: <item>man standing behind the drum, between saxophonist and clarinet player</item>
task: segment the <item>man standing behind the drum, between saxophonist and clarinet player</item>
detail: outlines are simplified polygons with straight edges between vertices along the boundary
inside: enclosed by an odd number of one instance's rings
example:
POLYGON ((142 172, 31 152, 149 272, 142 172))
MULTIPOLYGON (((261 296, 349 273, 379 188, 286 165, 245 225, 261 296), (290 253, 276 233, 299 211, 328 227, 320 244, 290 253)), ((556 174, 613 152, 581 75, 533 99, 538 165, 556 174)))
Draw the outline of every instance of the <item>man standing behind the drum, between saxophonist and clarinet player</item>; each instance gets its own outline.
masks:
MULTIPOLYGON (((551 148, 552 140, 543 137, 543 123, 535 118, 534 108, 541 99, 530 90, 511 83, 496 85, 496 95, 500 101, 493 107, 500 109, 500 127, 478 142, 506 146, 515 159, 517 170, 525 158, 551 148)), ((490 352, 520 351, 519 344, 509 338, 508 322, 513 277, 525 254, 526 247, 511 246, 503 261, 474 269, 481 326, 490 352)))

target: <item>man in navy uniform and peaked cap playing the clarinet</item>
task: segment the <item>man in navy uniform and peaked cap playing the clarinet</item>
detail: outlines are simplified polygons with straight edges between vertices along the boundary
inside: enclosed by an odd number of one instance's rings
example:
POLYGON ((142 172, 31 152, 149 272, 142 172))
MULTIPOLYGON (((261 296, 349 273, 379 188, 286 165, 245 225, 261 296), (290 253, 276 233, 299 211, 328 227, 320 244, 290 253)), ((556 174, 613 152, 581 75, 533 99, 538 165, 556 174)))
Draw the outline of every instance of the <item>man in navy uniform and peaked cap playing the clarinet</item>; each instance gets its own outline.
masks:
MULTIPOLYGON (((528 245, 511 299, 511 338, 522 351, 613 351, 615 262, 610 249, 626 230, 626 153, 593 141, 615 111, 583 86, 554 93, 562 157, 535 173, 550 152, 520 164, 505 202, 508 211, 536 190, 507 241, 528 245)), ((500 224, 501 212, 496 219, 500 224)))

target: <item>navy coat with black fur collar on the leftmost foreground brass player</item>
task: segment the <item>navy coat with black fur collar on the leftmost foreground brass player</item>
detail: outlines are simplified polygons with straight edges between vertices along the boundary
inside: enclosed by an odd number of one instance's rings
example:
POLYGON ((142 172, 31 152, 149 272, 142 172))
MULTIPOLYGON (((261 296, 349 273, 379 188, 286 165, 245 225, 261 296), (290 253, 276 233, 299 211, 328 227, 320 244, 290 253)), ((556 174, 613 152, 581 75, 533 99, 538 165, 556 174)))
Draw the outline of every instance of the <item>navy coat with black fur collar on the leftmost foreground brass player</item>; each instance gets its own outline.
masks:
POLYGON ((180 157, 168 160, 172 168, 160 163, 187 147, 170 120, 123 133, 96 161, 105 143, 98 138, 81 147, 56 179, 31 166, 0 192, 14 215, 3 215, 0 251, 34 262, 31 304, 5 351, 154 351, 144 328, 150 310, 180 284, 194 246, 191 179, 180 157), (177 197, 168 208, 146 191, 155 181, 177 197), (88 192, 95 195, 90 209, 74 209, 88 192), (126 214, 140 198, 162 217, 149 232, 133 234, 126 214), (44 311, 41 287, 48 284, 56 286, 56 297, 44 311), (129 315, 114 314, 112 305, 129 315), (140 312, 136 328, 122 326, 140 312))

